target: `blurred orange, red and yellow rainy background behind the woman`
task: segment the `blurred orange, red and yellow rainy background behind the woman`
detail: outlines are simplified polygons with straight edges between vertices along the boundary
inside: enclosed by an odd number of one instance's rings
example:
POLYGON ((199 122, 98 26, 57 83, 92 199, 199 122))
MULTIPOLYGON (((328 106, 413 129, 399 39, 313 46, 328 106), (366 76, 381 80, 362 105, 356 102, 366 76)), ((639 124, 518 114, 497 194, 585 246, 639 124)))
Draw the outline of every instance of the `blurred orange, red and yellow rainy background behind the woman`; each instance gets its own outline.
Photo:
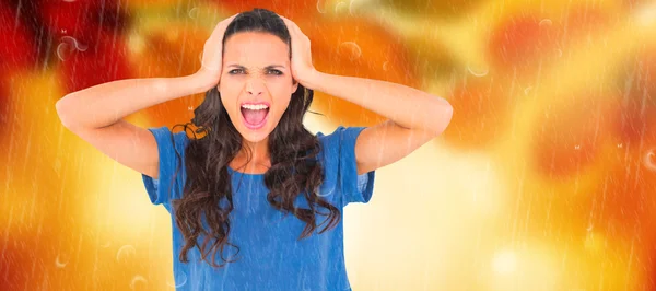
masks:
MULTIPOLYGON (((344 211, 354 290, 656 290, 656 2, 0 2, 0 289, 173 290, 168 213, 141 175, 61 126, 55 102, 200 66, 222 19, 296 22, 323 72, 455 108, 344 211)), ((316 92, 307 128, 372 126, 316 92)), ((188 121, 202 95, 127 119, 188 121)))

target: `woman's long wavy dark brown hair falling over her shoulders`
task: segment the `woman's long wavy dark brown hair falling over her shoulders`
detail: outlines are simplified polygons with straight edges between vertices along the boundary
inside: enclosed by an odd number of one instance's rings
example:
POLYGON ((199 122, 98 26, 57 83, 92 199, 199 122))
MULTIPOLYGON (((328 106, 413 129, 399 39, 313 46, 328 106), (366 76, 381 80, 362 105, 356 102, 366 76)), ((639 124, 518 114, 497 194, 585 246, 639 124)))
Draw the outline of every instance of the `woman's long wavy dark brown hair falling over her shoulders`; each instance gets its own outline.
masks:
MULTIPOLYGON (((280 37, 288 44, 291 59, 290 33, 283 20, 274 12, 254 9, 238 14, 226 27, 223 44, 225 45, 231 35, 239 32, 265 32, 280 37)), ((293 213, 306 223, 298 240, 308 237, 320 226, 317 225, 315 214, 328 217, 324 221, 328 224, 319 233, 335 228, 341 217, 338 208, 317 195, 318 187, 324 182, 324 170, 317 160, 320 143, 318 138, 303 126, 303 117, 312 104, 313 96, 314 92, 301 84, 292 94, 288 109, 269 136, 271 167, 265 173, 269 203, 285 214, 293 213), (294 207, 298 195, 307 199, 309 209, 294 207), (319 212, 318 208, 326 208, 329 213, 319 212)), ((234 208, 231 173, 227 167, 242 150, 243 138, 223 107, 216 86, 206 92, 204 101, 194 113, 195 117, 190 123, 174 126, 181 126, 185 132, 192 132, 185 149, 187 179, 183 196, 172 202, 176 224, 185 237, 179 260, 187 263, 187 253, 198 246, 202 260, 220 268, 225 264, 215 263, 218 252, 226 263, 235 261, 224 258, 223 251, 226 245, 237 249, 235 256, 239 252, 238 246, 227 241, 231 230, 229 214, 234 208), (195 129, 188 130, 190 127, 195 129), (197 135, 202 137, 197 138, 197 135), (203 219, 209 230, 203 228, 203 219), (204 240, 199 243, 198 237, 201 235, 204 240), (208 259, 208 256, 212 259, 208 259)), ((250 161, 251 152, 247 147, 244 150, 250 161)), ((179 153, 176 154, 179 161, 181 158, 179 153)), ((180 163, 177 164, 175 175, 179 172, 180 163)))

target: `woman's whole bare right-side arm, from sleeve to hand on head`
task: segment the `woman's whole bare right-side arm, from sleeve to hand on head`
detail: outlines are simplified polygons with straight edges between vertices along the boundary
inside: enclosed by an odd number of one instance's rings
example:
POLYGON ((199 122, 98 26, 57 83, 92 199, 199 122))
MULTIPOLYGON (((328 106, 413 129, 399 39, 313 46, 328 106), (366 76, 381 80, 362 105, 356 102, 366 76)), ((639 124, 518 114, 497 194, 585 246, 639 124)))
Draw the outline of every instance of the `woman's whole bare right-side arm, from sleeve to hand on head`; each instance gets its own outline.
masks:
POLYGON ((453 107, 442 97, 393 82, 317 71, 312 65, 309 38, 293 21, 283 20, 295 51, 292 73, 301 84, 388 118, 358 136, 355 162, 359 175, 407 156, 441 135, 450 123, 453 107))

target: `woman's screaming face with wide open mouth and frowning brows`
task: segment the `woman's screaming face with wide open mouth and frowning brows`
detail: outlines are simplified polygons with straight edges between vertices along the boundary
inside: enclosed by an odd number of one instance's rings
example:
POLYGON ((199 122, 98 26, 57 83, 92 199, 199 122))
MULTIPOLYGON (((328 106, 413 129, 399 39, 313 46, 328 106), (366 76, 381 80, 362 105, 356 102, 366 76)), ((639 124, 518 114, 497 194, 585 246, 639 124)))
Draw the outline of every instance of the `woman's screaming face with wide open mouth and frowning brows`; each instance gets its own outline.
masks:
POLYGON ((219 92, 245 140, 265 140, 286 110, 298 88, 290 65, 289 46, 276 35, 236 33, 225 42, 219 92))

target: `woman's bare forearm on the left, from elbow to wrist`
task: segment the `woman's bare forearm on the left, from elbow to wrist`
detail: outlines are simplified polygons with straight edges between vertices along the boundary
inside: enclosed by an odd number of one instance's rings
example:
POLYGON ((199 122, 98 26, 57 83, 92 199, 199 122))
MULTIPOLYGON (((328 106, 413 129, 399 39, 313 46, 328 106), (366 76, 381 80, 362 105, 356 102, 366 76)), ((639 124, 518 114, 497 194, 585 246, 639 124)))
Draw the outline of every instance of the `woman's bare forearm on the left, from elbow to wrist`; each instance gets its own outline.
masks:
POLYGON ((143 108, 208 90, 195 75, 126 79, 80 90, 57 102, 67 128, 101 128, 143 108))

